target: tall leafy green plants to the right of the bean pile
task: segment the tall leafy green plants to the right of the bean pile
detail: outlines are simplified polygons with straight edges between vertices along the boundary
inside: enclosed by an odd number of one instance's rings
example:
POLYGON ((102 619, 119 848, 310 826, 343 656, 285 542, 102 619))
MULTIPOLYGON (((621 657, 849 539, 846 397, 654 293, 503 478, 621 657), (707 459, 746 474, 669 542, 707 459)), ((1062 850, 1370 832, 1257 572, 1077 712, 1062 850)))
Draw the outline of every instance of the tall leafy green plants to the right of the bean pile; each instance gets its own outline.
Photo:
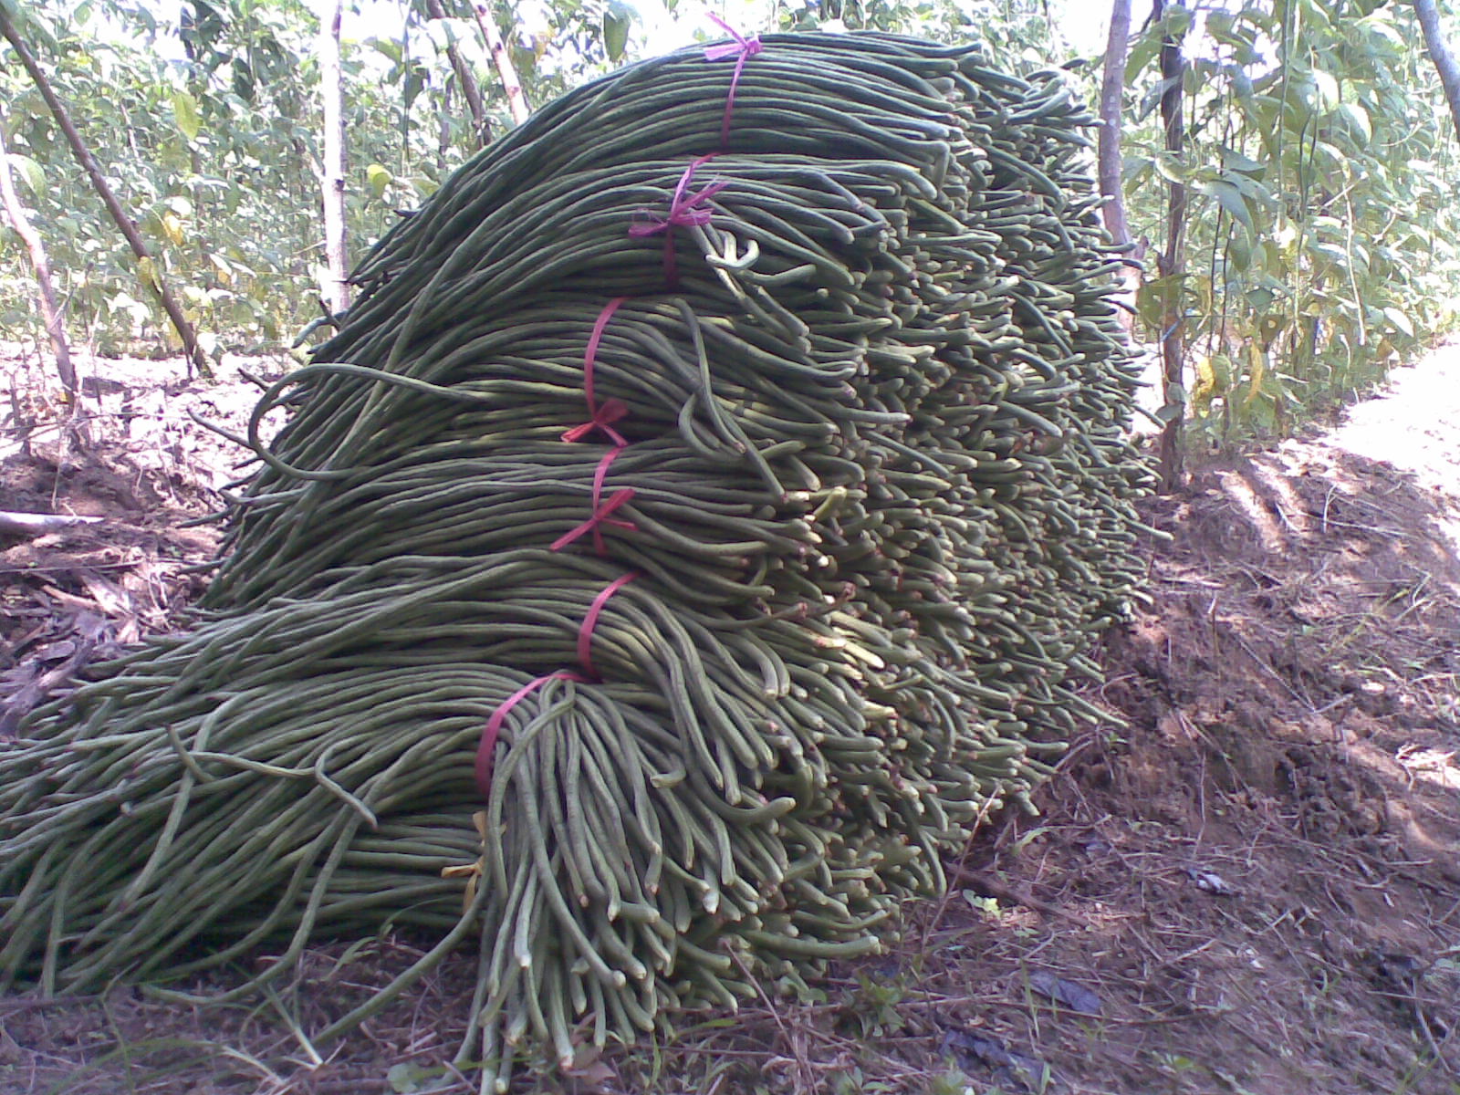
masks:
POLYGON ((1187 185, 1188 261, 1139 296, 1159 337, 1180 301, 1190 413, 1207 435, 1282 432, 1349 399, 1456 321, 1457 150, 1407 7, 1273 0, 1172 6, 1133 42, 1132 223, 1155 181, 1187 185), (1181 88, 1186 152, 1161 146, 1155 69, 1199 20, 1181 88))

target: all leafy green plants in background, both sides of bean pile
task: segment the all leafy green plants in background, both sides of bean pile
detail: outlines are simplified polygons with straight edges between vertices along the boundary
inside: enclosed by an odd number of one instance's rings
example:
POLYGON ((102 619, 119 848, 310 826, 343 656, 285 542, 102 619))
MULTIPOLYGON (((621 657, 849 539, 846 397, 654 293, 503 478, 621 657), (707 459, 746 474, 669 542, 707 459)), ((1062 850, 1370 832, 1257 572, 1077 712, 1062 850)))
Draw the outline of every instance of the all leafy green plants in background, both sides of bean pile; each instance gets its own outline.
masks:
MULTIPOLYGON (((383 4, 380 32, 343 44, 356 254, 480 147, 463 67, 486 128, 512 124, 479 16, 493 20, 531 104, 648 48, 623 0, 397 1, 399 19, 383 4)), ((210 346, 282 346, 318 315, 317 20, 304 0, 187 0, 181 15, 45 0, 28 10, 28 34, 210 346)), ((1057 19, 1041 0, 781 0, 771 12, 778 29, 978 38, 1010 69, 1061 64, 1094 101, 1095 58, 1060 41, 1057 19)), ((0 93, 70 330, 110 350, 165 346, 136 263, 44 104, 12 66, 0 67, 0 93)), ((1148 269, 1140 333, 1159 337, 1165 308, 1181 317, 1187 383, 1172 409, 1184 403, 1202 434, 1283 429, 1456 321, 1460 152, 1441 104, 1407 4, 1171 4, 1136 34, 1124 112, 1134 235, 1164 245, 1155 184, 1190 190, 1188 261, 1164 276, 1148 269), (1169 153, 1156 60, 1177 20, 1190 23, 1191 57, 1183 152, 1169 153)), ((31 292, 20 248, 6 248, 0 337, 36 337, 31 292)))

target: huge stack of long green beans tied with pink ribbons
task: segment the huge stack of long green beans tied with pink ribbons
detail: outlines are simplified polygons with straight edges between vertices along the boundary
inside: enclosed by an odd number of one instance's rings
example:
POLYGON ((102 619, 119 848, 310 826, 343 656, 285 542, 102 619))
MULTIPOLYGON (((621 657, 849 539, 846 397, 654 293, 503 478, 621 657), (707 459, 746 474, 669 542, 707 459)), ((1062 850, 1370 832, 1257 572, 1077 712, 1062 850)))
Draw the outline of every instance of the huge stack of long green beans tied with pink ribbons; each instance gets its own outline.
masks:
POLYGON ((1048 774, 1148 486, 1091 118, 761 47, 565 96, 375 247, 196 626, 0 752, 0 978, 438 927, 324 1035, 474 937, 501 1088, 875 948, 1048 774))

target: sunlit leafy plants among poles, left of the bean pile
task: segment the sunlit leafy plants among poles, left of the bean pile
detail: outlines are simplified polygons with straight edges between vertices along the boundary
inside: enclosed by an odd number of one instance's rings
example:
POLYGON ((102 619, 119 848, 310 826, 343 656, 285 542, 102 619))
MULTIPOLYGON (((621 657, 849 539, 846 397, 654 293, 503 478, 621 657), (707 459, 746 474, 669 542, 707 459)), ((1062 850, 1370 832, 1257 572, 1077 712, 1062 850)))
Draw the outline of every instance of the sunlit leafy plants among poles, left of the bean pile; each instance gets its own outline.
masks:
MULTIPOLYGON (((447 45, 463 45, 489 91, 492 127, 511 126, 466 0, 450 10, 431 19, 420 0, 402 0, 399 20, 374 13, 393 36, 345 42, 356 254, 480 146, 447 45)), ((531 50, 508 25, 534 102, 606 70, 628 42, 616 1, 553 10, 558 22, 531 50)), ((323 280, 318 20, 304 0, 187 0, 180 16, 124 0, 45 0, 26 9, 22 32, 207 347, 280 347, 318 315, 323 280)), ((124 241, 19 66, 0 66, 0 95, 69 328, 105 352, 171 349, 124 241)), ((4 248, 0 337, 36 337, 32 293, 22 251, 4 248)))

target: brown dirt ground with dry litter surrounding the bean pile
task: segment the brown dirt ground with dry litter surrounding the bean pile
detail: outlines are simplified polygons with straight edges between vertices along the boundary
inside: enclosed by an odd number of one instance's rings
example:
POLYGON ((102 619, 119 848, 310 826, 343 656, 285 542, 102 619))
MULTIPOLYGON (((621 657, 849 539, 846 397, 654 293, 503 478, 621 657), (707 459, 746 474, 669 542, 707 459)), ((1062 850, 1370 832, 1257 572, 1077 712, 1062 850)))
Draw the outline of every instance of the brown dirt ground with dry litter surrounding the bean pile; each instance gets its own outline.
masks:
MULTIPOLYGON (((96 362, 82 451, 38 366, 0 361, 0 510, 104 518, 0 539, 0 698, 180 619, 216 545, 182 523, 239 453, 187 412, 241 432, 250 377, 282 368, 96 362)), ((1152 603, 1091 696, 1123 724, 950 863, 891 953, 524 1089, 1460 1094, 1460 346, 1330 431, 1200 466, 1148 520, 1171 537, 1152 603)), ((469 961, 308 1040, 428 945, 324 945, 234 1004, 0 997, 0 1095, 470 1091, 444 1064, 469 961)))

